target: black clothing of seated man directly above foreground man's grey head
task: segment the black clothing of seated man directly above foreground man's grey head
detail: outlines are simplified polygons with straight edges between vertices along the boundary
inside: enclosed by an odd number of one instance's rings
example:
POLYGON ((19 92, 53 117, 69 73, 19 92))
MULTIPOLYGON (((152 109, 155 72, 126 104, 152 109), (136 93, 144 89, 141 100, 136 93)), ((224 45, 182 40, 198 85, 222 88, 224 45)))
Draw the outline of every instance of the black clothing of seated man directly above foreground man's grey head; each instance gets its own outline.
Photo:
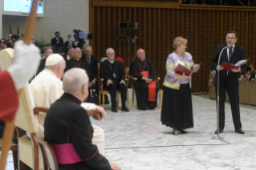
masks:
POLYGON ((88 64, 85 61, 83 61, 82 59, 79 59, 79 61, 77 61, 76 59, 67 60, 65 72, 71 68, 82 68, 83 70, 86 71, 88 77, 90 77, 90 75, 91 75, 90 68, 89 68, 88 64))

